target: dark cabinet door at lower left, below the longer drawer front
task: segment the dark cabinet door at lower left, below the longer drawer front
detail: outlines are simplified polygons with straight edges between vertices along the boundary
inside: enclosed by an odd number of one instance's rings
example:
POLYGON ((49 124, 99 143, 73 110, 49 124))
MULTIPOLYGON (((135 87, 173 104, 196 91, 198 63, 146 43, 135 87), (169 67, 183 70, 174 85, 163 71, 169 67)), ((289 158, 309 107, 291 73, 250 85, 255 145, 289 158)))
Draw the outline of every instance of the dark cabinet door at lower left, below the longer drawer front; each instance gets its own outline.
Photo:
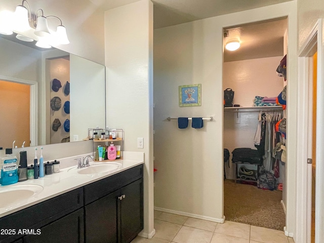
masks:
MULTIPOLYGON (((35 230, 35 232, 37 232, 35 230)), ((79 209, 41 228, 41 234, 27 235, 26 243, 84 242, 84 214, 79 209)))

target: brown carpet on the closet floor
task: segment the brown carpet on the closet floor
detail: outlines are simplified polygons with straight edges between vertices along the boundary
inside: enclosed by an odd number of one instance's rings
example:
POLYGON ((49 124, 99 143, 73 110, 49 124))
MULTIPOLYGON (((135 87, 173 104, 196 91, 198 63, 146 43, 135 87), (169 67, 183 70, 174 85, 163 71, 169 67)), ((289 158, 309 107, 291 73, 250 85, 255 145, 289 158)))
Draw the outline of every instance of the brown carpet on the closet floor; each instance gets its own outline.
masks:
POLYGON ((225 219, 283 231, 286 215, 281 198, 279 190, 262 190, 254 185, 224 180, 225 219))

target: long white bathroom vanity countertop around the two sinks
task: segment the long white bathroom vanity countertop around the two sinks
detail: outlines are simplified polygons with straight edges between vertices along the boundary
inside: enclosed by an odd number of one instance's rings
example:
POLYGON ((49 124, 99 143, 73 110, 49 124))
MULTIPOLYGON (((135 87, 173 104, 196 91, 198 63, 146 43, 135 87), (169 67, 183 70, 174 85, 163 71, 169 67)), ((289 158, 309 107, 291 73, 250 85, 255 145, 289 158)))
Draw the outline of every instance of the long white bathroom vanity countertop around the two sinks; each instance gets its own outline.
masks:
MULTIPOLYGON (((133 152, 130 152, 130 154, 133 154, 133 152)), ((138 154, 135 154, 135 156, 127 156, 127 157, 125 156, 124 158, 125 159, 123 160, 118 160, 114 162, 114 163, 116 162, 120 163, 120 168, 114 171, 99 173, 99 174, 89 174, 89 175, 82 175, 78 173, 68 172, 68 170, 70 170, 71 168, 76 168, 76 164, 77 164, 76 161, 73 161, 73 159, 69 158, 69 160, 72 160, 73 166, 65 168, 65 166, 61 164, 61 171, 59 173, 53 173, 52 175, 46 175, 38 179, 28 179, 26 181, 18 182, 8 186, 1 186, 0 195, 2 191, 10 190, 10 188, 15 187, 16 185, 22 185, 25 187, 28 187, 28 185, 30 184, 39 185, 43 187, 43 190, 41 192, 34 193, 34 195, 26 199, 17 199, 12 201, 8 205, 2 206, 0 208, 0 217, 9 215, 21 209, 38 204, 41 201, 45 201, 57 195, 71 191, 78 187, 82 187, 92 182, 101 180, 103 178, 115 175, 119 172, 128 170, 130 168, 136 167, 144 163, 144 153, 140 153, 139 156, 138 154), (127 159, 128 157, 131 159, 127 159)), ((109 163, 109 161, 103 163, 109 163)), ((71 165, 71 163, 69 163, 69 165, 71 165)))

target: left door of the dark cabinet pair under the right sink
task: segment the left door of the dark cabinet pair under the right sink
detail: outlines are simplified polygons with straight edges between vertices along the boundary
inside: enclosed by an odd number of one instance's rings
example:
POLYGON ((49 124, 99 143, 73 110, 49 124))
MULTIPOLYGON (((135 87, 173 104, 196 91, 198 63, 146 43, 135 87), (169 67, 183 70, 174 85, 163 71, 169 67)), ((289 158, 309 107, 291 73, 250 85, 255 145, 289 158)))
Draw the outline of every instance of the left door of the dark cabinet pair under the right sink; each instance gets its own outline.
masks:
POLYGON ((86 242, 117 242, 117 196, 112 192, 85 207, 86 242))

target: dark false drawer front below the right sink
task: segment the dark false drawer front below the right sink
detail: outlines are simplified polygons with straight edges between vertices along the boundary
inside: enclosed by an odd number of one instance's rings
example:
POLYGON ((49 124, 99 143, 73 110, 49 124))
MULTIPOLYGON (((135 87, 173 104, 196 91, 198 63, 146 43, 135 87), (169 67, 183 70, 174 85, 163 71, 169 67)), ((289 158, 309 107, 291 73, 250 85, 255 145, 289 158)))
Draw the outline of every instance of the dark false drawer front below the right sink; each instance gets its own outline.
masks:
POLYGON ((143 165, 109 176, 84 187, 85 205, 143 177, 143 165))

